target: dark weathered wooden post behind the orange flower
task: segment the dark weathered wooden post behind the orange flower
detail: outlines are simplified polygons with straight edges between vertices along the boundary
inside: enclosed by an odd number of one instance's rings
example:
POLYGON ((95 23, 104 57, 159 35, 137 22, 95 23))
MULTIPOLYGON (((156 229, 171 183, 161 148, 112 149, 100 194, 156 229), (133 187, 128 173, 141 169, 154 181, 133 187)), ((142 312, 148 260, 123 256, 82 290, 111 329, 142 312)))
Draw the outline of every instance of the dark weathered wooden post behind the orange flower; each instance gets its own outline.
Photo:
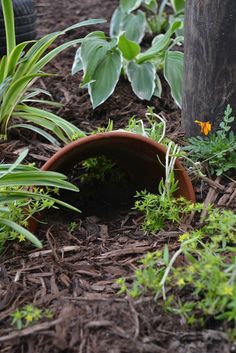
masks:
MULTIPOLYGON (((236 119, 236 0, 186 0, 182 121, 220 122, 229 103, 236 119)), ((234 130, 236 124, 234 124, 234 130)))

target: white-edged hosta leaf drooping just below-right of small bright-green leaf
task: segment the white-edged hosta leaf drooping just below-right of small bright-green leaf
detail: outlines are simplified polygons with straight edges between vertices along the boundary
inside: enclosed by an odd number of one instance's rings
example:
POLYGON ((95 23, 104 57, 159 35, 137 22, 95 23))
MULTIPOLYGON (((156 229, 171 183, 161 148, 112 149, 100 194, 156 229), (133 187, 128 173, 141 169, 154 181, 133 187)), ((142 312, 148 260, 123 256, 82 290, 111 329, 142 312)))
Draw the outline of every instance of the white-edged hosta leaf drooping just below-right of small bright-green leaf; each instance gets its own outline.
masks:
POLYGON ((155 90, 156 70, 152 63, 136 64, 130 62, 127 75, 134 93, 140 99, 150 100, 155 90))

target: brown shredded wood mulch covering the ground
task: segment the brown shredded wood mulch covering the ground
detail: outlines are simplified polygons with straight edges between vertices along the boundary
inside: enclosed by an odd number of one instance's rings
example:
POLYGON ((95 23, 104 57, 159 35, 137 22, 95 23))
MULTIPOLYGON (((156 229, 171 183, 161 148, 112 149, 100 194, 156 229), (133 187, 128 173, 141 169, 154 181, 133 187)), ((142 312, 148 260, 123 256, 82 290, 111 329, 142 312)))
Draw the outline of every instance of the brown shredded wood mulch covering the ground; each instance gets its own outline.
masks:
MULTIPOLYGON (((91 17, 106 18, 109 23, 117 3, 39 0, 38 34, 91 17)), ((100 29, 108 32, 108 24, 100 29)), ((82 37, 90 31, 91 27, 81 28, 65 39, 82 37)), ((47 71, 58 73, 58 77, 39 80, 56 101, 64 104, 58 114, 89 132, 106 126, 109 119, 116 128, 122 128, 133 115, 144 118, 148 104, 165 115, 168 136, 182 141, 180 111, 173 105, 166 87, 165 98, 144 102, 135 97, 123 80, 112 97, 93 110, 87 91, 79 88, 80 77, 70 75, 75 50, 65 51, 48 65, 47 71)), ((1 161, 15 160, 17 153, 28 146, 28 161, 41 166, 57 150, 36 135, 13 130, 10 138, 0 145, 1 161)), ((227 181, 206 177, 193 182, 199 201, 235 208, 235 189, 227 181)), ((42 251, 17 244, 6 248, 0 259, 1 353, 236 351, 219 323, 210 322, 203 329, 189 328, 183 318, 164 313, 161 302, 154 302, 152 297, 133 301, 117 296, 115 280, 132 278, 138 260, 147 251, 162 248, 164 244, 176 250, 182 229, 168 229, 150 236, 140 229, 140 215, 130 208, 129 202, 112 207, 111 212, 104 210, 98 213, 96 207, 88 208, 84 215, 50 211, 48 222, 38 230, 44 243, 42 251), (77 224, 73 231, 71 222, 77 224), (28 303, 52 310, 53 319, 17 331, 11 326, 9 315, 28 303)))

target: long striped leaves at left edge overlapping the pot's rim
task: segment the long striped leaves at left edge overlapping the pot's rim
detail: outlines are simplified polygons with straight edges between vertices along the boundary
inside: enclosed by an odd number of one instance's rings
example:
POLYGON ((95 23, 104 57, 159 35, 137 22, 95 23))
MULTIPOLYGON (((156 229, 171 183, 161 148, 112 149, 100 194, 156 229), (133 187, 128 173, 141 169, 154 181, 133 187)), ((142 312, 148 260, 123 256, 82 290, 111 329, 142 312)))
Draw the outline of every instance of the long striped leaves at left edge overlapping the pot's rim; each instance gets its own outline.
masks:
POLYGON ((27 155, 23 150, 15 163, 0 164, 0 251, 8 240, 29 240, 35 246, 41 242, 27 229, 35 213, 56 205, 78 211, 75 207, 50 196, 59 189, 79 191, 66 181, 63 174, 41 171, 32 165, 22 165, 27 155))

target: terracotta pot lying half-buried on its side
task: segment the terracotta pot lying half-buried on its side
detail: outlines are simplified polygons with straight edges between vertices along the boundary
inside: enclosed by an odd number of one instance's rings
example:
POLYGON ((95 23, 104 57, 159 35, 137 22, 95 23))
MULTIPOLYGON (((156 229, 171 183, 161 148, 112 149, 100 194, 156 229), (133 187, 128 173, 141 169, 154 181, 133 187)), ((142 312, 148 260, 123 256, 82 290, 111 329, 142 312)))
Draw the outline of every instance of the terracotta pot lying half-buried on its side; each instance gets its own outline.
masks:
MULTIPOLYGON (((90 135, 66 145, 44 164, 42 170, 68 174, 78 162, 105 155, 127 172, 137 190, 157 192, 158 184, 165 176, 162 165, 165 164, 165 154, 166 148, 149 138, 123 131, 107 132, 90 135)), ((175 178, 179 185, 176 196, 195 202, 191 180, 178 160, 175 164, 175 178)))

